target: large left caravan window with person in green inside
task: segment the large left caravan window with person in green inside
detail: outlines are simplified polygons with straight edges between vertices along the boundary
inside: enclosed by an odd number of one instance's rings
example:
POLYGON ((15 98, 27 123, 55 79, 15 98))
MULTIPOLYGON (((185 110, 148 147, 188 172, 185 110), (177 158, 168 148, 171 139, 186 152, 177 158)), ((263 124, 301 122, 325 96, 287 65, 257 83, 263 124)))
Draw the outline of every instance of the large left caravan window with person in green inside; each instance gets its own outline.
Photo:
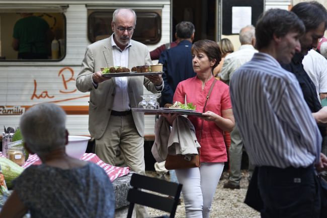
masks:
POLYGON ((0 32, 0 61, 59 61, 65 56, 63 13, 2 10, 0 32))

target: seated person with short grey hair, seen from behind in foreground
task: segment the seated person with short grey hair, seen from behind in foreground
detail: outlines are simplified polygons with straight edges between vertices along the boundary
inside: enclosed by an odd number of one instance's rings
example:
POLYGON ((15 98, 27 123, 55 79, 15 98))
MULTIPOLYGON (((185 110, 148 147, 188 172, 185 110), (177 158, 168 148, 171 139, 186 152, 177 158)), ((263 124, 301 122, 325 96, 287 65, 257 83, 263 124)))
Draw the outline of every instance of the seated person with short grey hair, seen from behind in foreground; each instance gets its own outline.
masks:
POLYGON ((42 161, 14 180, 14 191, 0 217, 114 217, 113 186, 99 166, 67 156, 65 112, 39 104, 23 114, 24 146, 42 161))

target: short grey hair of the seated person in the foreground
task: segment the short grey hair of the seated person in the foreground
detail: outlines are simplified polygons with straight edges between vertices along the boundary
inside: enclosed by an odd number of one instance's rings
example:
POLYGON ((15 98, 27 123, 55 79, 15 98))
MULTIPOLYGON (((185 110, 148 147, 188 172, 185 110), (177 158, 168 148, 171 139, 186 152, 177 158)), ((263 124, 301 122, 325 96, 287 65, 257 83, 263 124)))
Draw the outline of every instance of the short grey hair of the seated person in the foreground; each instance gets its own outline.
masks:
POLYGON ((20 129, 31 152, 47 154, 65 147, 66 114, 53 103, 38 104, 28 109, 20 120, 20 129))

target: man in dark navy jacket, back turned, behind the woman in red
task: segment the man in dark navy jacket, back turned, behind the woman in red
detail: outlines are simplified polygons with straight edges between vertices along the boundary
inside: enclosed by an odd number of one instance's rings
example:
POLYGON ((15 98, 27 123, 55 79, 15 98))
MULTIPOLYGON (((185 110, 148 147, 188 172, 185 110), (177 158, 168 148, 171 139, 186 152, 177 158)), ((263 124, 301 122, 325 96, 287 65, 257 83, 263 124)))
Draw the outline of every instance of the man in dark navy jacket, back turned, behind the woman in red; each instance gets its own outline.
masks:
POLYGON ((194 25, 182 21, 176 25, 176 38, 179 44, 161 53, 159 63, 163 64, 163 90, 161 91, 160 107, 173 103, 173 96, 177 85, 186 79, 195 77, 192 65, 192 42, 194 39, 194 25))

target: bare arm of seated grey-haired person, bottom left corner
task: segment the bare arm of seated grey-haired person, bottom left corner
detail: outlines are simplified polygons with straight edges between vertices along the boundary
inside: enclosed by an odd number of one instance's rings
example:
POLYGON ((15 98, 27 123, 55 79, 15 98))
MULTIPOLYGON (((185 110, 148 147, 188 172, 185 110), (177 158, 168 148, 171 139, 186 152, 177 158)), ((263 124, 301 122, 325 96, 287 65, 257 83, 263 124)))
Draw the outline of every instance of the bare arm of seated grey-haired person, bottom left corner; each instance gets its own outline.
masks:
POLYGON ((27 207, 19 199, 17 192, 14 190, 2 208, 0 218, 21 218, 26 212, 27 207))

